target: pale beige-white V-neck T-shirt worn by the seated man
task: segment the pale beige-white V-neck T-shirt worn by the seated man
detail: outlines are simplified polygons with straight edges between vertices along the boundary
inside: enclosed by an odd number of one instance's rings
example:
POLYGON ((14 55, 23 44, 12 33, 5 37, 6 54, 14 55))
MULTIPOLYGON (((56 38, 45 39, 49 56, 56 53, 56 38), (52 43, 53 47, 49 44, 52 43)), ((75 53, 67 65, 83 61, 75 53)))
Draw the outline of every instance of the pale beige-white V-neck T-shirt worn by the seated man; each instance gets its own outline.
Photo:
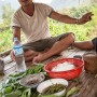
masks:
POLYGON ((19 8, 12 17, 11 26, 20 27, 28 42, 50 38, 47 17, 52 10, 48 5, 34 3, 34 13, 29 16, 19 8))

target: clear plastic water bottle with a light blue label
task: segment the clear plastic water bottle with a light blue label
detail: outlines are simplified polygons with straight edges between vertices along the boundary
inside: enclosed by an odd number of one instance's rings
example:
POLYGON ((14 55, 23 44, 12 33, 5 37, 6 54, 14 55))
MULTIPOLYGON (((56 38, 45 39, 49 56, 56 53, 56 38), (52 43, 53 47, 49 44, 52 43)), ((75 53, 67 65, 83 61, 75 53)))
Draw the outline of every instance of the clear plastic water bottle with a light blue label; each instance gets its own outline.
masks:
POLYGON ((17 71, 18 72, 26 71, 23 45, 20 44, 17 38, 14 38, 13 51, 15 55, 17 71))

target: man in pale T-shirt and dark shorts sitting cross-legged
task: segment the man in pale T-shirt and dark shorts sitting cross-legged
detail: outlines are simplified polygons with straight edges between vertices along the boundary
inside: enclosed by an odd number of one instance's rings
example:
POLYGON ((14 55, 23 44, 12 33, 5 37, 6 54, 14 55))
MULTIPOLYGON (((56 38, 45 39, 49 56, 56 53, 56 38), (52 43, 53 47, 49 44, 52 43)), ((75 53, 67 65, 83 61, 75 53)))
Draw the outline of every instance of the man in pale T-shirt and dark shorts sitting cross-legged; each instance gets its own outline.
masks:
MULTIPOLYGON (((52 37, 48 31, 47 17, 66 24, 82 25, 91 20, 92 13, 86 13, 80 19, 55 12, 51 6, 33 3, 32 0, 18 0, 20 8, 14 13, 11 22, 13 38, 20 41, 20 29, 27 38, 24 44, 26 61, 42 61, 59 54, 74 42, 72 32, 52 37)), ((13 51, 12 59, 15 60, 13 51)))

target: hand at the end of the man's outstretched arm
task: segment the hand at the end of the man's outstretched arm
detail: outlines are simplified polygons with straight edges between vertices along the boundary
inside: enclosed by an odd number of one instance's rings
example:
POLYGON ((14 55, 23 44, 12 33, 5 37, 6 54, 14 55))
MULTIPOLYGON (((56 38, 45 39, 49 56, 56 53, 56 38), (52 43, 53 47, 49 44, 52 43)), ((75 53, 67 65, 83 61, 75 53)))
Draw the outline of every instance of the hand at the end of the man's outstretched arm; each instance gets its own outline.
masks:
POLYGON ((79 25, 82 25, 82 24, 85 24, 85 23, 89 22, 89 20, 92 19, 92 16, 93 16, 92 12, 88 12, 88 13, 84 14, 84 15, 79 19, 78 24, 79 24, 79 25))

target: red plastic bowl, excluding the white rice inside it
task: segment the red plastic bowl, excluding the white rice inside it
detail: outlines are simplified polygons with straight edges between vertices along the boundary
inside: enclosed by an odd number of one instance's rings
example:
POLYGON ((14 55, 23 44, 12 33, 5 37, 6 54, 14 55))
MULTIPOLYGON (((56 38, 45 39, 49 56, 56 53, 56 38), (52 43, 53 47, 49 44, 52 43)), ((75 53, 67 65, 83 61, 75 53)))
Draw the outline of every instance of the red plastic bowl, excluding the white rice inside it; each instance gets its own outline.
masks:
POLYGON ((72 80, 80 75, 82 69, 83 69, 84 61, 77 58, 63 58, 56 61, 48 63, 44 66, 44 71, 48 74, 50 78, 61 78, 66 80, 72 80), (63 64, 65 61, 71 63, 75 66, 74 69, 68 70, 68 71, 59 71, 54 72, 51 71, 53 67, 55 67, 58 64, 63 64))

